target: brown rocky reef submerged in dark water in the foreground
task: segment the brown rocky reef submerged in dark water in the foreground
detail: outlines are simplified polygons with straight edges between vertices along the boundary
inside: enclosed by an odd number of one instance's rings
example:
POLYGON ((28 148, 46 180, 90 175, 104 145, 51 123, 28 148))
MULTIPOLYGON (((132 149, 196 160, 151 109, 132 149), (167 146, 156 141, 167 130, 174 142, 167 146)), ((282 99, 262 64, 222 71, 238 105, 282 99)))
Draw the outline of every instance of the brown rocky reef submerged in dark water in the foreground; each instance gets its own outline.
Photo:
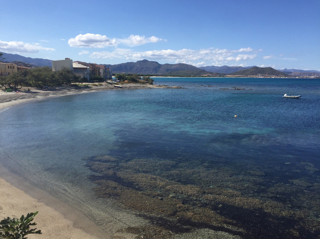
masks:
POLYGON ((85 160, 97 197, 150 222, 123 229, 135 238, 320 238, 320 171, 308 162, 85 160))

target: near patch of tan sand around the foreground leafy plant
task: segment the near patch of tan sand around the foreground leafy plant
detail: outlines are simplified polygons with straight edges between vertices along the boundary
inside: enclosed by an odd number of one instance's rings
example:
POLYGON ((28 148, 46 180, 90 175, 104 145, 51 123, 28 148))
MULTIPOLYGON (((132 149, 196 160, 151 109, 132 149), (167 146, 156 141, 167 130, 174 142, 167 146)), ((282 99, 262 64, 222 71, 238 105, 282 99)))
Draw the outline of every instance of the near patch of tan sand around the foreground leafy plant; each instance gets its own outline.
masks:
POLYGON ((28 238, 111 238, 78 209, 60 201, 44 190, 27 183, 0 165, 0 218, 20 218, 29 212, 39 213, 34 222, 41 235, 28 238), (31 196, 32 195, 32 196, 31 196))

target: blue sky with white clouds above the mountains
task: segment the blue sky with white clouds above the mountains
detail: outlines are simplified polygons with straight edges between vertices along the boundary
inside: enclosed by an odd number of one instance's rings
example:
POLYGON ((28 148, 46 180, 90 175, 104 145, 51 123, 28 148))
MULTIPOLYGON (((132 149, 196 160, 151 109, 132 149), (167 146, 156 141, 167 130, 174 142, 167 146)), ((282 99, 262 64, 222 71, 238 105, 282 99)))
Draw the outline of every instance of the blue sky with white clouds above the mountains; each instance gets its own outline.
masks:
POLYGON ((320 71, 319 0, 9 1, 0 51, 119 64, 320 71))

